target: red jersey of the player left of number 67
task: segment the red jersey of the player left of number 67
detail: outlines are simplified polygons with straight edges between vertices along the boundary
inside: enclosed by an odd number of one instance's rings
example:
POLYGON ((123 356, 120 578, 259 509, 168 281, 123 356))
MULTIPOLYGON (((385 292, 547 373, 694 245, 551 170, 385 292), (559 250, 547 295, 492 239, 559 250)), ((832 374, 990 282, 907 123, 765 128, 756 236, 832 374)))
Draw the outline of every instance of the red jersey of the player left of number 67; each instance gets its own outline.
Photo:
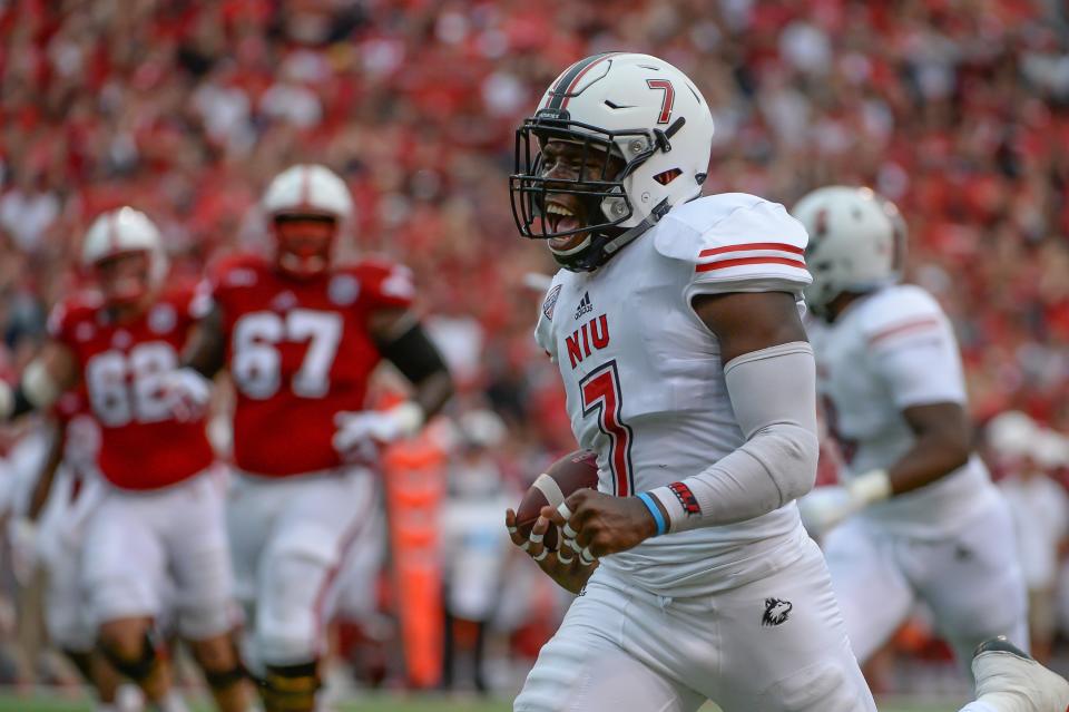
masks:
POLYGON ((163 294, 131 321, 112 321, 94 296, 58 305, 49 333, 73 353, 94 417, 100 423, 99 465, 122 489, 158 489, 207 468, 214 453, 204 420, 175 420, 163 377, 178 365, 193 324, 192 289, 163 294))

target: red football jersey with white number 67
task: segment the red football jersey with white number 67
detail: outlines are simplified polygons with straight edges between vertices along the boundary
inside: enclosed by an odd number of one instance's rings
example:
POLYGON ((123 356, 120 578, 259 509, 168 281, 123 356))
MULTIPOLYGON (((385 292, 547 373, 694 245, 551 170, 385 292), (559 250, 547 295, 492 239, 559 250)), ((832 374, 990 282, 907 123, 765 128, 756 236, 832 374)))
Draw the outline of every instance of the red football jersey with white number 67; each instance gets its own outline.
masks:
POLYGON ((369 319, 411 305, 411 272, 365 261, 295 280, 238 255, 213 271, 204 298, 198 312, 214 303, 223 315, 237 467, 286 477, 341 465, 334 416, 364 409, 381 358, 369 319))

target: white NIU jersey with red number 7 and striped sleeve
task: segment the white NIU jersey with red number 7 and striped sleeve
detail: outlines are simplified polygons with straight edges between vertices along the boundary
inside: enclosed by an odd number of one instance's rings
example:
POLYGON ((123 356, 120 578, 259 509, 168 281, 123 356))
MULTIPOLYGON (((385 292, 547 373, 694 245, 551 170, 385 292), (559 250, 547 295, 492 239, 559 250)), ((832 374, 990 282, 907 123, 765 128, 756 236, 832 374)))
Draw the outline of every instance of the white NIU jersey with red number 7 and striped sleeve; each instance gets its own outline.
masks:
MULTIPOLYGON (((801 295, 805 228, 782 205, 728 193, 676 206, 595 272, 561 270, 536 339, 557 362, 580 447, 598 452, 598 488, 619 497, 676 482, 745 442, 719 343, 696 294, 801 295)), ((736 393, 736 398, 739 397, 736 393)), ((700 595, 801 556, 794 503, 738 524, 648 539, 602 566, 644 588, 700 595)))

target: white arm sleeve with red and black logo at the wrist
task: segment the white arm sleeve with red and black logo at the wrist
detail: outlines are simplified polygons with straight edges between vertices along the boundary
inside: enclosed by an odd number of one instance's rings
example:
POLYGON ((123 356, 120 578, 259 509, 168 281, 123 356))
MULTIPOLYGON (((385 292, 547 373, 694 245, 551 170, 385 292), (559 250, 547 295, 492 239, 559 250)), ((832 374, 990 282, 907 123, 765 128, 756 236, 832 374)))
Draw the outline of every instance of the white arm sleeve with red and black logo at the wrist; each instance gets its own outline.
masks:
POLYGON ((818 451, 816 367, 805 342, 769 347, 724 367, 744 442, 707 469, 650 495, 669 531, 753 519, 813 488, 818 451))

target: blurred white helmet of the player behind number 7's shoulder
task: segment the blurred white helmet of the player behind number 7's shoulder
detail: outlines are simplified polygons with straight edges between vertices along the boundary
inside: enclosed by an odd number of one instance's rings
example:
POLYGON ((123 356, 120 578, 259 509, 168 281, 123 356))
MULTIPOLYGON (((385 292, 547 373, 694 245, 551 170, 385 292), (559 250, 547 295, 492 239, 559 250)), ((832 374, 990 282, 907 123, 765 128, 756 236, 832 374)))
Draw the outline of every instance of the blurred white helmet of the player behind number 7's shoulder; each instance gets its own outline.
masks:
POLYGON ((805 225, 813 283, 805 301, 821 312, 844 292, 869 292, 902 279, 905 223, 893 203, 869 188, 813 191, 792 214, 805 225))

